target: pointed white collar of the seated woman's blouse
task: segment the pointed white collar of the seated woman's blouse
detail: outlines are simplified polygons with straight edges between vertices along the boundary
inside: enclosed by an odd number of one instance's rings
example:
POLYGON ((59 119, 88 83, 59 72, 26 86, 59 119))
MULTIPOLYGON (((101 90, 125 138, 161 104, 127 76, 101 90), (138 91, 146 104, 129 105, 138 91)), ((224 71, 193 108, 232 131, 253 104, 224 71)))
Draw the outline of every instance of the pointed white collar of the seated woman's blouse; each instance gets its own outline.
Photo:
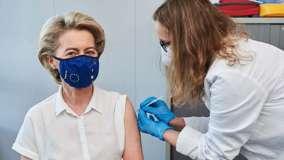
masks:
MULTIPOLYGON (((93 95, 92 95, 91 101, 90 101, 88 107, 86 108, 85 112, 82 115, 84 115, 87 112, 89 112, 92 108, 95 109, 100 114, 102 114, 101 93, 100 93, 99 88, 94 83, 93 83, 93 95)), ((56 104, 55 104, 56 116, 58 116, 64 110, 66 110, 67 113, 76 115, 68 107, 68 105, 65 103, 65 101, 63 100, 63 97, 62 97, 62 84, 61 84, 60 87, 59 87, 59 91, 57 92, 57 95, 56 95, 56 104)))

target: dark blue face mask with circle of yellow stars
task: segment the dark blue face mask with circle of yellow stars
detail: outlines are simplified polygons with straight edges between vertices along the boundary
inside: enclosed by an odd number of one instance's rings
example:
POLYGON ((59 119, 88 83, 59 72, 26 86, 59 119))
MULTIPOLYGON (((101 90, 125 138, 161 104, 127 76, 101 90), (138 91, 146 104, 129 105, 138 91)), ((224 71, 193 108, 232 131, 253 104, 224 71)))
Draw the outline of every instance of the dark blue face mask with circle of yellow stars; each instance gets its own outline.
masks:
POLYGON ((72 87, 86 88, 90 86, 98 76, 98 58, 79 55, 72 58, 61 59, 54 57, 59 62, 61 78, 72 87))

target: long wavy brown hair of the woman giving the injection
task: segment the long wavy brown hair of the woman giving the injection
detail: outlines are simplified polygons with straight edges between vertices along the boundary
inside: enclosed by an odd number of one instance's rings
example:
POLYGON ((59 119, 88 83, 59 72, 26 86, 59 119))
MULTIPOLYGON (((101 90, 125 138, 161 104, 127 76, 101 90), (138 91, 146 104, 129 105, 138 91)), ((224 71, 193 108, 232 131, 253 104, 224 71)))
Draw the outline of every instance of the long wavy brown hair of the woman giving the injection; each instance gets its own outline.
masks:
POLYGON ((203 103, 204 79, 216 58, 228 59, 230 66, 252 60, 237 53, 237 41, 248 40, 244 27, 208 0, 166 0, 153 19, 171 40, 174 70, 166 67, 166 77, 175 106, 203 103))

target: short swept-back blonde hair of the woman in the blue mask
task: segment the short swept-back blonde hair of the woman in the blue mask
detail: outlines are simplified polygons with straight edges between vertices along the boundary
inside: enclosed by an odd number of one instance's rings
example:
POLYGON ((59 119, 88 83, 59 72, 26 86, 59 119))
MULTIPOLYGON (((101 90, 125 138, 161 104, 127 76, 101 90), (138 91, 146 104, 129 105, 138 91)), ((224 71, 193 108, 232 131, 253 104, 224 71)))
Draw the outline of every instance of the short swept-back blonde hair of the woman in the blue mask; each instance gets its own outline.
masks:
POLYGON ((43 67, 58 84, 62 83, 60 74, 51 68, 47 60, 47 56, 55 56, 59 37, 65 31, 72 29, 90 31, 94 37, 95 49, 98 53, 98 58, 102 54, 105 46, 104 31, 101 26, 90 16, 82 13, 68 12, 48 19, 40 34, 38 56, 43 67))

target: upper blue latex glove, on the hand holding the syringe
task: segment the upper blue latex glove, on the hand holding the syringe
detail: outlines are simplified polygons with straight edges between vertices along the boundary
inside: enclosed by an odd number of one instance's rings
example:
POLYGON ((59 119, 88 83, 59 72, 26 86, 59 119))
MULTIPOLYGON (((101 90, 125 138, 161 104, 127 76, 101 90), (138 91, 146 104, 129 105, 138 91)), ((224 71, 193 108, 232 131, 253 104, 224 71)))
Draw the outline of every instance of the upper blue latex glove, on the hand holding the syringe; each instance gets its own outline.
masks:
POLYGON ((157 102, 152 103, 150 106, 146 106, 152 101, 156 100, 155 97, 150 97, 147 100, 140 103, 140 107, 148 113, 154 114, 155 117, 162 122, 168 124, 168 122, 175 117, 175 115, 168 109, 168 106, 164 101, 158 100, 157 102))

